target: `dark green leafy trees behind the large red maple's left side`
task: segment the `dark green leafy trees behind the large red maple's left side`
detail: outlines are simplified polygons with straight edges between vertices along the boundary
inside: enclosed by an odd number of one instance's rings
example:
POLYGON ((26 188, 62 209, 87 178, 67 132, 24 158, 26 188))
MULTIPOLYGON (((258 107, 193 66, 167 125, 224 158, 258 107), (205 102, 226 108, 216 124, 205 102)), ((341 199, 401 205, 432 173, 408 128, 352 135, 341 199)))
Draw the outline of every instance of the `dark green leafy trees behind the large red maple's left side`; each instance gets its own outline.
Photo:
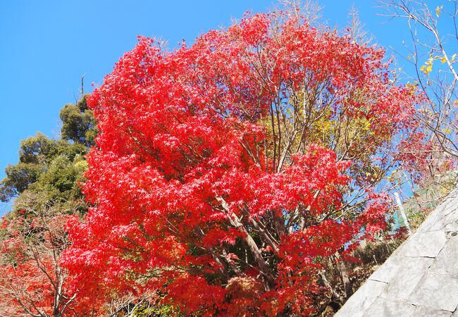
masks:
POLYGON ((19 162, 6 167, 0 182, 0 199, 16 197, 13 211, 54 206, 68 213, 86 209, 79 183, 87 168, 85 154, 96 135, 92 111, 83 97, 61 110, 62 139, 37 132, 20 142, 19 162))

